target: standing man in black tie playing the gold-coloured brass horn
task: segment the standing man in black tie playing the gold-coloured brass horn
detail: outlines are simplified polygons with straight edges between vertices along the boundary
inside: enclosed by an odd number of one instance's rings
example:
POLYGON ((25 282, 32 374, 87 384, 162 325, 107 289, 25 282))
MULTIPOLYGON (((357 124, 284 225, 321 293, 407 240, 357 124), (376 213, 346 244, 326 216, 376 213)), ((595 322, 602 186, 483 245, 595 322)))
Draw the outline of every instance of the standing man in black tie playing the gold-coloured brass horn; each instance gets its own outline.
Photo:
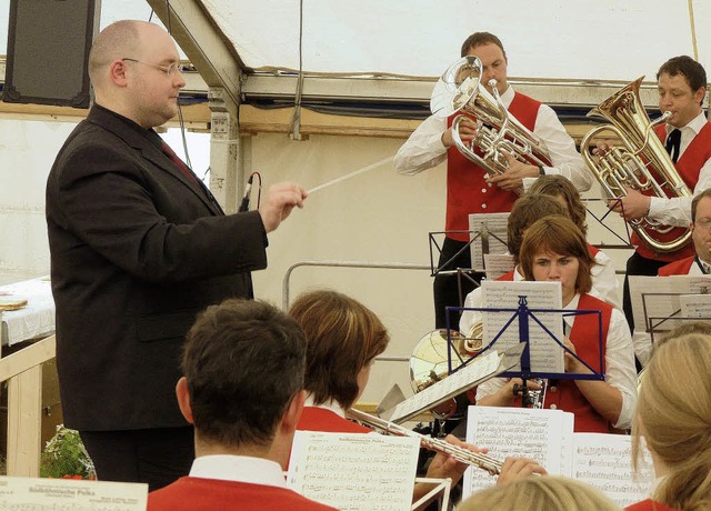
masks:
MULTIPOLYGON (((707 73, 691 57, 681 56, 664 62, 657 72, 657 80, 659 108, 672 116, 665 126, 658 126, 654 130, 664 141, 679 176, 693 190, 693 196, 697 196, 711 188, 711 123, 701 109, 707 92, 707 73)), ((627 196, 615 202, 612 210, 625 221, 648 218, 663 227, 682 228, 665 234, 648 230, 659 241, 677 239, 691 222, 692 198, 649 197, 645 193, 628 188, 627 196)), ((691 244, 673 252, 654 251, 642 244, 635 233, 632 234, 632 244, 635 250, 627 261, 622 304, 630 330, 634 328, 634 318, 629 275, 655 275, 664 264, 693 255, 691 244)))

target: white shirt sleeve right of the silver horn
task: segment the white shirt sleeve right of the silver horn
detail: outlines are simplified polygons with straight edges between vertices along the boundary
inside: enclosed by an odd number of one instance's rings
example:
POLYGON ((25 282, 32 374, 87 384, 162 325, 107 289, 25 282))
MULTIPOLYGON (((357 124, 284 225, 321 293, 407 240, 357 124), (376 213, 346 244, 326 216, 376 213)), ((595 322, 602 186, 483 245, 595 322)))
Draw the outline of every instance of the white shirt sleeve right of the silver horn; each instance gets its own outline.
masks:
POLYGON ((590 190, 592 171, 585 167, 575 142, 548 104, 541 104, 538 109, 533 133, 545 142, 551 156, 552 167, 544 168, 545 173, 567 178, 581 193, 590 190))

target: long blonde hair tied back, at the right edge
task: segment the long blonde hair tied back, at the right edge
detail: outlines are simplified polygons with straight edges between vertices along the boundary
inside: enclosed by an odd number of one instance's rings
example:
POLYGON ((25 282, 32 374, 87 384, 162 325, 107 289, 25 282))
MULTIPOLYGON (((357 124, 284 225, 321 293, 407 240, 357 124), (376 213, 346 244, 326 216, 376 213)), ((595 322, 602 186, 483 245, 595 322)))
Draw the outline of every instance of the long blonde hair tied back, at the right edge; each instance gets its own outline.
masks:
POLYGON ((685 511, 711 509, 711 335, 665 340, 647 367, 632 421, 637 470, 641 437, 669 474, 654 500, 685 511))

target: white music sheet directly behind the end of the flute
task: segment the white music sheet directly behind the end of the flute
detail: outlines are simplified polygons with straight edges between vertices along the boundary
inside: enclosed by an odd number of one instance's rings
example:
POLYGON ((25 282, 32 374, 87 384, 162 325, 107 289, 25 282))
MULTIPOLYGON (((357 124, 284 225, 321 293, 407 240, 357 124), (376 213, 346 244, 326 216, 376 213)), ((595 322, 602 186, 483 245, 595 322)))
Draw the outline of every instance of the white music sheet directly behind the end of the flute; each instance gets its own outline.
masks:
MULTIPOLYGON (((565 412, 530 408, 469 407, 467 441, 488 448, 489 455, 530 458, 549 473, 560 473, 559 442, 565 412)), ((462 500, 472 492, 495 484, 497 478, 470 467, 464 472, 462 500)))

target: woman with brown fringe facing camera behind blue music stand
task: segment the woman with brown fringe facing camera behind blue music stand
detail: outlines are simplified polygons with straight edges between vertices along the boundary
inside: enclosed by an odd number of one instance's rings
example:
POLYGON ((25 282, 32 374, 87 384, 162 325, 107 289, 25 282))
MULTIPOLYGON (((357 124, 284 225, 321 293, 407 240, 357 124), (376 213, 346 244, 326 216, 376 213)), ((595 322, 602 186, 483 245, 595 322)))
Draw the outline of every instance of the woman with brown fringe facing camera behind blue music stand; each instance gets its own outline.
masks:
MULTIPOLYGON (((628 429, 637 397, 632 340, 623 314, 589 294, 593 260, 582 232, 563 217, 538 220, 523 236, 519 260, 527 280, 561 283, 564 309, 602 312, 605 380, 550 381, 544 407, 574 413, 577 432, 608 432, 610 425, 628 429)), ((598 314, 567 315, 564 330, 565 347, 591 368, 598 368, 601 348, 598 314)), ((565 353, 565 372, 589 373, 590 370, 578 358, 565 353)), ((482 383, 477 391, 477 403, 514 405, 513 385, 518 382, 517 379, 494 379, 482 383)))

